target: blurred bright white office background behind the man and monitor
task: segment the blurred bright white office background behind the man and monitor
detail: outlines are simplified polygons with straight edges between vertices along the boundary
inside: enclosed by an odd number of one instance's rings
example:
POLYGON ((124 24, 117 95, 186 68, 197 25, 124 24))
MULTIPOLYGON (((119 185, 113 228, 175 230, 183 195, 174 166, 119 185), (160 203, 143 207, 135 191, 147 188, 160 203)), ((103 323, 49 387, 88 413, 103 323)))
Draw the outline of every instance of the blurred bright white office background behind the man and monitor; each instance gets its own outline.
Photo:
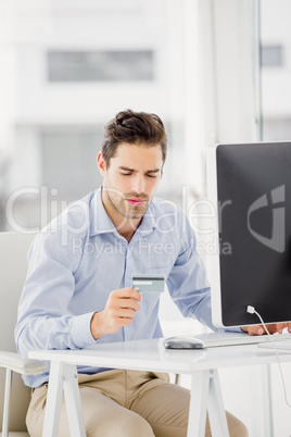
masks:
MULTIPOLYGON (((124 109, 164 121, 159 195, 186 213, 206 197, 210 146, 291 140, 290 16, 290 0, 0 0, 0 232, 38 230, 98 188, 103 128, 124 109)), ((250 436, 290 437, 276 366, 220 379, 250 436)))

